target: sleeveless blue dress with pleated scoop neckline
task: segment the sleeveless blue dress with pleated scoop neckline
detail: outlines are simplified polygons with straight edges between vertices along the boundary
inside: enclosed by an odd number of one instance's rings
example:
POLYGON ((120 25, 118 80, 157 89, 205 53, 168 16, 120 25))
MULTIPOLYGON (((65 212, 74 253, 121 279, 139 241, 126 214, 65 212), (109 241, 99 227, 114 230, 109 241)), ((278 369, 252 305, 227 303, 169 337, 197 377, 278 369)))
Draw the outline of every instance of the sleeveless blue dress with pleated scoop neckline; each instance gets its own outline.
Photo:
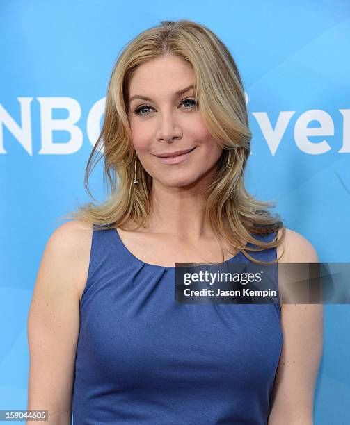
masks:
MULTIPOLYGON (((92 238, 73 424, 267 424, 283 347, 280 306, 177 303, 175 267, 139 260, 116 228, 92 238)), ((251 255, 272 260, 276 248, 251 255)), ((224 263, 232 262, 249 260, 239 252, 224 263)))

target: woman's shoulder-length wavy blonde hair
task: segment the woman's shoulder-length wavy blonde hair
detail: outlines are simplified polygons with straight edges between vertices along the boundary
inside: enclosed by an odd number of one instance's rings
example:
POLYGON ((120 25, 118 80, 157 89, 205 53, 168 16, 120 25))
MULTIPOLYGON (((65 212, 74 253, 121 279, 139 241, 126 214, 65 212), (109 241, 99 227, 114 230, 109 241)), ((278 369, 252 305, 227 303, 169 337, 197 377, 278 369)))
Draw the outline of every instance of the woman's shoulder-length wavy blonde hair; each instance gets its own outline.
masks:
MULTIPOLYGON (((263 262, 247 251, 278 247, 285 237, 280 215, 267 208, 271 201, 259 201, 244 187, 244 169, 250 153, 248 113, 239 70, 225 44, 205 26, 189 20, 163 21, 131 40, 113 67, 106 94, 104 122, 88 158, 84 184, 90 172, 104 158, 104 176, 111 193, 95 205, 87 203, 63 218, 81 219, 106 228, 122 228, 127 222, 145 226, 151 207, 152 176, 137 165, 138 184, 134 185, 134 147, 128 121, 129 82, 136 68, 164 55, 175 55, 189 63, 196 77, 196 101, 210 133, 220 140, 223 153, 216 167, 216 177, 206 192, 205 220, 209 222, 221 247, 219 236, 232 249, 241 250, 249 260, 263 262), (103 156, 97 160, 103 147, 103 156), (226 168, 230 152, 231 167, 226 168), (278 238, 278 229, 282 229, 278 238), (276 232, 271 242, 255 239, 253 234, 276 232), (247 247, 244 242, 255 244, 247 247)), ((95 199, 93 197, 93 199, 95 199)))

